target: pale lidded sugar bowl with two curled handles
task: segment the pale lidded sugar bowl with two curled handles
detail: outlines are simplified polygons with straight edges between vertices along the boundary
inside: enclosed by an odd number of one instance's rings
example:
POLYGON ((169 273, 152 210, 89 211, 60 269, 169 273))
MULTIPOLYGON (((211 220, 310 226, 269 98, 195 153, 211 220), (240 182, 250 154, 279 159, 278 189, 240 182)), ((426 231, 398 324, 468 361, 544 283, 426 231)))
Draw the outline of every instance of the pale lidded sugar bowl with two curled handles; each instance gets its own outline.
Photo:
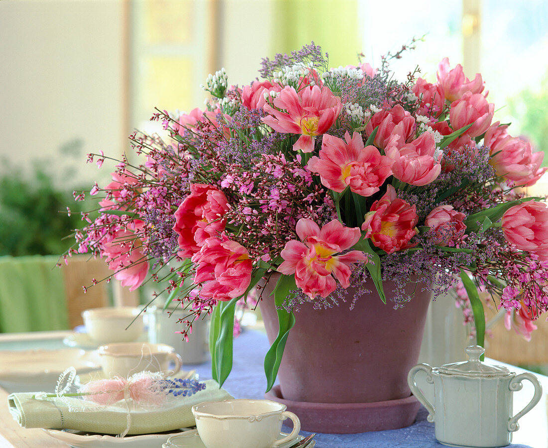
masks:
POLYGON ((470 360, 431 367, 414 366, 407 377, 413 395, 429 412, 434 422, 436 439, 443 445, 494 448, 509 445, 512 432, 519 429, 518 419, 539 402, 542 387, 532 374, 516 375, 503 366, 483 364, 480 346, 466 348, 470 360), (427 383, 433 384, 434 403, 428 401, 417 386, 418 372, 426 372, 427 383), (521 390, 523 380, 533 383, 535 392, 529 404, 512 415, 513 392, 521 390))

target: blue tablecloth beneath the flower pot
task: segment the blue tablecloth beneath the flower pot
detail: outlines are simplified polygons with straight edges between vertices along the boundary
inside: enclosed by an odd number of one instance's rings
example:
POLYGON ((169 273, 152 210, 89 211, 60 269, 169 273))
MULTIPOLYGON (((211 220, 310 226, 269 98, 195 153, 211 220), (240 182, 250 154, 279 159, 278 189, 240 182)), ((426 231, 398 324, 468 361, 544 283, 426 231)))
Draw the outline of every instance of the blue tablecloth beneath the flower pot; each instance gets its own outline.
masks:
MULTIPOLYGON (((235 398, 264 398, 266 378, 263 370, 264 355, 269 348, 266 335, 246 330, 234 341, 232 372, 224 384, 235 398)), ((211 363, 195 368, 202 379, 211 378, 211 363)), ((341 366, 341 376, 344 366, 341 366)), ((443 447, 434 437, 434 425, 426 421, 428 412, 421 408, 412 426, 402 429, 358 434, 317 434, 316 448, 434 448, 443 447)), ((301 434, 309 434, 301 431, 301 434)), ((530 448, 512 444, 509 448, 530 448)))

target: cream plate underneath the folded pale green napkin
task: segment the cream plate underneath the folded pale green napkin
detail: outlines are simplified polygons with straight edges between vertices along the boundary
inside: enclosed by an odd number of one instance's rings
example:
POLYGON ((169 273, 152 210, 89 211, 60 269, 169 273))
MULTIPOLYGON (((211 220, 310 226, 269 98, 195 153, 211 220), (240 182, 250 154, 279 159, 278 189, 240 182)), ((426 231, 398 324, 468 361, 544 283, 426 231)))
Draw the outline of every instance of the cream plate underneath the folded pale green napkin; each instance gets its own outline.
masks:
POLYGON ((87 435, 77 431, 59 431, 56 429, 44 429, 54 439, 61 440, 73 448, 153 448, 161 447, 172 435, 181 434, 183 428, 163 434, 127 435, 116 437, 114 435, 87 435))

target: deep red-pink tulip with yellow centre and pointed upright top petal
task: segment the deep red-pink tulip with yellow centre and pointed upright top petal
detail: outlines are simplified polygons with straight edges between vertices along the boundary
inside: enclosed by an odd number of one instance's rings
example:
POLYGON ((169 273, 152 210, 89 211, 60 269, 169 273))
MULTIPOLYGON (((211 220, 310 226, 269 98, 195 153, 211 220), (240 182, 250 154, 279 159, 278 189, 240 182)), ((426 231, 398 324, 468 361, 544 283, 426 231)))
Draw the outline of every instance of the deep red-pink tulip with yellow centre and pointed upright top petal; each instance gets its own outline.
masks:
POLYGON ((376 200, 366 214, 362 230, 375 246, 391 254, 406 249, 416 234, 415 206, 396 197, 396 190, 389 185, 385 195, 376 200))

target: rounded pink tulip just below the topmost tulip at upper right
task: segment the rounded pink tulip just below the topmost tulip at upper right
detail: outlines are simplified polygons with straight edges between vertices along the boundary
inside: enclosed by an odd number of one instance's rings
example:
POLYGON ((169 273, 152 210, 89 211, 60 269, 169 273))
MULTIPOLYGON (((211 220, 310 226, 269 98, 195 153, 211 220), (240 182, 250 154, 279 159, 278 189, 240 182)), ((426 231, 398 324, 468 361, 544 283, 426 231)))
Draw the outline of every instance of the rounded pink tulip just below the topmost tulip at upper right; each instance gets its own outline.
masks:
POLYGON ((451 103, 449 122, 455 130, 472 123, 466 133, 471 137, 477 137, 489 129, 494 108, 495 106, 489 104, 483 95, 465 92, 459 100, 451 103))

